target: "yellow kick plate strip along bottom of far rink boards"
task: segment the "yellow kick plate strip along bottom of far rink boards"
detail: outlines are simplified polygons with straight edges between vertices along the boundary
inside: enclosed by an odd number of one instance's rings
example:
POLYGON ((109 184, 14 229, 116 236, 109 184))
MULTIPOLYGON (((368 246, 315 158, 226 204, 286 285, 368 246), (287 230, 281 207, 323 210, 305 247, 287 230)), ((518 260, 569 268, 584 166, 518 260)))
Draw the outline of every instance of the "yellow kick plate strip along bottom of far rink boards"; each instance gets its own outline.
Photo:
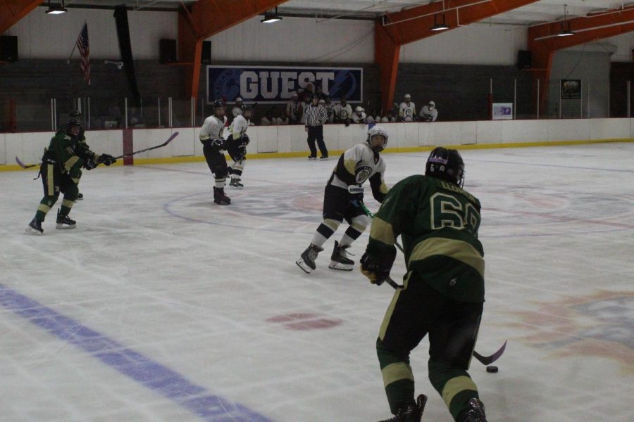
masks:
MULTIPOLYGON (((446 148, 455 148, 459 150, 466 149, 492 149, 492 148, 524 148, 530 146, 566 146, 566 145, 584 145, 590 143, 617 143, 617 142, 634 142, 632 138, 623 138, 623 139, 595 139, 592 141, 539 141, 539 142, 509 142, 509 143, 466 143, 459 145, 442 145, 446 148)), ((405 147, 395 147, 395 148, 386 148, 383 153, 417 153, 423 151, 431 151, 437 145, 430 146, 405 146, 405 147)), ((331 150, 330 151, 330 160, 333 161, 337 158, 343 150, 331 150)), ((257 160, 257 159, 265 159, 265 158, 305 158, 308 151, 295 151, 292 153, 249 153, 247 158, 249 160, 257 160)), ((230 160, 228 155, 227 160, 230 160)), ((181 162, 202 162, 205 158, 203 156, 182 156, 182 157, 159 157, 159 158, 135 158, 135 165, 153 165, 153 164, 174 164, 181 162)), ((113 166, 123 165, 123 160, 119 160, 113 166)), ((2 171, 34 171, 39 170, 39 167, 32 167, 30 169, 23 169, 19 165, 0 165, 0 172, 2 171)))

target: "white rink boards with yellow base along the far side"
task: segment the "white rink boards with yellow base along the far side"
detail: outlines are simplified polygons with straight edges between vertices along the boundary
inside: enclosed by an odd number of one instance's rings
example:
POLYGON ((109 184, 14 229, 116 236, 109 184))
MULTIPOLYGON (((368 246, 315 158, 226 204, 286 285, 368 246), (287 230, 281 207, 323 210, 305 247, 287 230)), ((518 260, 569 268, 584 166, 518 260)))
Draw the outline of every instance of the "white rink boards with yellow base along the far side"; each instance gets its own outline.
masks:
MULTIPOLYGON (((390 134, 386 152, 409 152, 432 146, 456 148, 502 148, 547 146, 574 143, 632 141, 634 119, 498 120, 434 123, 385 123, 390 134)), ((324 139, 335 155, 366 139, 367 125, 330 124, 324 139)), ((198 141, 199 128, 122 129, 86 132, 95 151, 123 154, 123 142, 132 142, 134 151, 159 145, 174 132, 179 135, 163 148, 135 155, 135 164, 204 160, 198 141)), ((0 170, 21 170, 15 157, 37 163, 51 140, 51 132, 0 134, 0 170)), ((249 158, 302 157, 308 154, 304 126, 249 127, 249 158)))

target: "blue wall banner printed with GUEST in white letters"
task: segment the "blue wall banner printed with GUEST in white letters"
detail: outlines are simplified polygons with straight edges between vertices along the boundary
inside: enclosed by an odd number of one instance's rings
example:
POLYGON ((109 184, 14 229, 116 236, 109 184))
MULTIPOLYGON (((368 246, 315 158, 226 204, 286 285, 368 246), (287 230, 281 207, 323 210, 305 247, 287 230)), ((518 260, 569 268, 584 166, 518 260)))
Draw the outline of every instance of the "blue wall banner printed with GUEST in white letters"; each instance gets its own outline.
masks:
POLYGON ((321 85, 333 101, 346 96, 349 103, 363 102, 363 68, 207 66, 207 103, 238 96, 245 103, 286 103, 308 84, 321 85))

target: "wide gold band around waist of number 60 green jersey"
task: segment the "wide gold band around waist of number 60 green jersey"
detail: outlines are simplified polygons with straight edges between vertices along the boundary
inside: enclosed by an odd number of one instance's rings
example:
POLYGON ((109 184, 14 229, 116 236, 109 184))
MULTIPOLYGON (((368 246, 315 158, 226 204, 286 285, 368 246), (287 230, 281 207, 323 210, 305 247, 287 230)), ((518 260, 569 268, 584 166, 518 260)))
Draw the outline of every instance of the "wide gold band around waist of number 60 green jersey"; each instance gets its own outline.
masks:
POLYGON ((448 238, 428 238, 418 243, 414 246, 414 250, 411 251, 408 267, 414 261, 421 261, 433 255, 445 255, 454 258, 454 260, 464 262, 464 264, 478 271, 484 279, 485 264, 478 250, 464 241, 448 238))

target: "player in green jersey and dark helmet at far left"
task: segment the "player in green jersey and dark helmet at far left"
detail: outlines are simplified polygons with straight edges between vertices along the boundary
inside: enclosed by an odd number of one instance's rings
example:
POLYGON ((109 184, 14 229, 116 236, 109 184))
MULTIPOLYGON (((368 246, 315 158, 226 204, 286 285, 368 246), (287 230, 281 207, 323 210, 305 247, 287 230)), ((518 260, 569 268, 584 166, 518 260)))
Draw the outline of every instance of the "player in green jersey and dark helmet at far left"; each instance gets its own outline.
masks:
POLYGON ((42 222, 51 207, 57 202, 59 194, 64 199, 57 212, 57 229, 75 229, 75 220, 68 217, 77 195, 79 194, 82 167, 92 170, 100 163, 111 165, 116 162, 112 155, 97 154, 90 151, 82 133, 82 117, 80 112, 70 113, 64 129, 57 132, 49 147, 44 150, 39 174, 44 185, 44 198, 37 207, 35 217, 27 226, 27 233, 40 235, 44 233, 42 222))

